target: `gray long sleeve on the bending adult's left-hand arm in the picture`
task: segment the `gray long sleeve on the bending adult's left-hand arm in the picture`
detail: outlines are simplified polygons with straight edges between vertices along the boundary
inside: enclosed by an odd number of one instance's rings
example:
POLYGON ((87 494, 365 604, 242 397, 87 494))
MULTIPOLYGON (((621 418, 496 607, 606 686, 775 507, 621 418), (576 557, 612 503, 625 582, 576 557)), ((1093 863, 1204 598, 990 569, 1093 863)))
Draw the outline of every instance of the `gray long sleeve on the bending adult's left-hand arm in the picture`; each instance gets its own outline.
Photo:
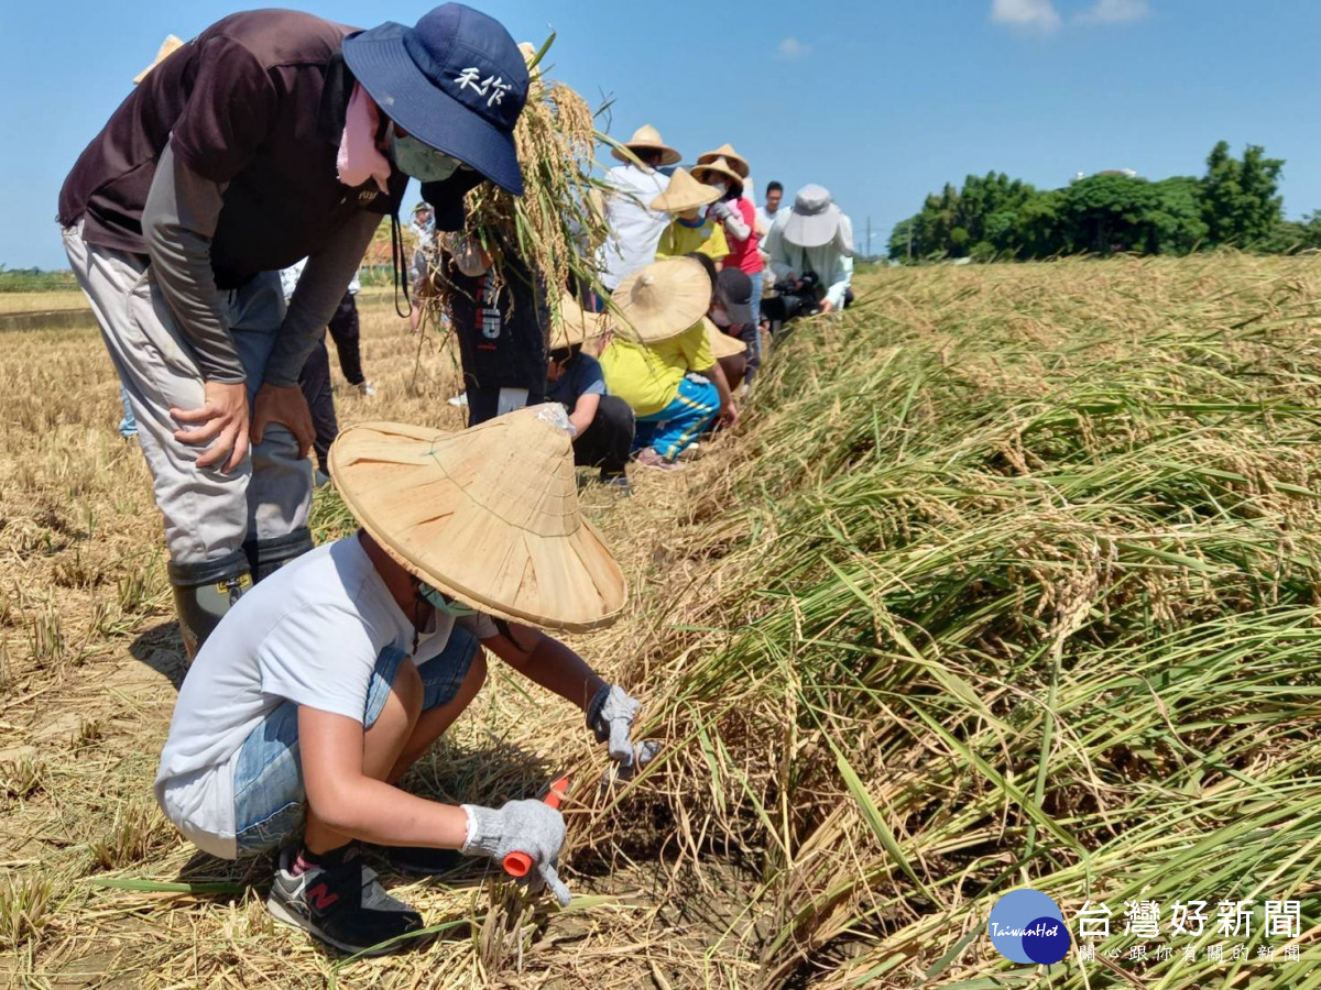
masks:
POLYGON ((223 195, 225 185, 198 176, 166 144, 143 207, 143 238, 156 285, 202 378, 239 383, 246 378, 243 364, 211 272, 211 236, 223 195))

